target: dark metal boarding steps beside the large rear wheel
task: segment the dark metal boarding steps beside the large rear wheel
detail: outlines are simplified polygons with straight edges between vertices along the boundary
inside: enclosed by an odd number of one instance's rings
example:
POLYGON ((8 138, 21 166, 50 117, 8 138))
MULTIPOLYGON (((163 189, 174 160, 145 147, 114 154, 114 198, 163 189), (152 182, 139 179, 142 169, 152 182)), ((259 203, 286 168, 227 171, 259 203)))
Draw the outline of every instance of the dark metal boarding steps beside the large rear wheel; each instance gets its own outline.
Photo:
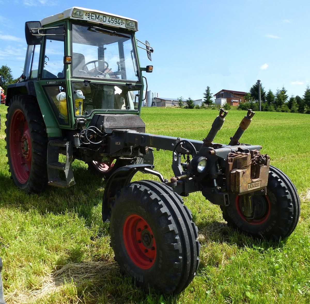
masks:
POLYGON ((71 141, 51 140, 47 146, 48 184, 60 188, 75 185, 73 171, 73 145, 71 141), (65 162, 59 161, 59 155, 66 157, 65 162))

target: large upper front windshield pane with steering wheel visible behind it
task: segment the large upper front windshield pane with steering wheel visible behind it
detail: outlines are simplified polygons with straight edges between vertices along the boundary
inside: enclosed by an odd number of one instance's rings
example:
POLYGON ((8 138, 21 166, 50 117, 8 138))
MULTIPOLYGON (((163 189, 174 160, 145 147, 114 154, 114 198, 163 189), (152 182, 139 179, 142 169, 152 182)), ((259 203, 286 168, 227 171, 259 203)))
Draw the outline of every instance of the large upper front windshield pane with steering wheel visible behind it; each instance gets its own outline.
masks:
POLYGON ((131 33, 72 25, 72 75, 139 81, 131 33))

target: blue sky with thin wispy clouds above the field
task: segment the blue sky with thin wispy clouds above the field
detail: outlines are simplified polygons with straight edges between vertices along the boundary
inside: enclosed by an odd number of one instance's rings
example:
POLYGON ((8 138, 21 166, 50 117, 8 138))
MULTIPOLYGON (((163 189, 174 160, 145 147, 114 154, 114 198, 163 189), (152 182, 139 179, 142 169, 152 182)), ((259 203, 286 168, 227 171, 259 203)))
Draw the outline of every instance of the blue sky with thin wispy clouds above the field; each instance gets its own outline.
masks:
POLYGON ((207 86, 248 92, 260 79, 266 92, 283 86, 303 96, 310 85, 309 0, 0 0, 0 66, 22 74, 24 23, 73 6, 138 20, 139 51, 148 90, 160 97, 201 99, 207 86))

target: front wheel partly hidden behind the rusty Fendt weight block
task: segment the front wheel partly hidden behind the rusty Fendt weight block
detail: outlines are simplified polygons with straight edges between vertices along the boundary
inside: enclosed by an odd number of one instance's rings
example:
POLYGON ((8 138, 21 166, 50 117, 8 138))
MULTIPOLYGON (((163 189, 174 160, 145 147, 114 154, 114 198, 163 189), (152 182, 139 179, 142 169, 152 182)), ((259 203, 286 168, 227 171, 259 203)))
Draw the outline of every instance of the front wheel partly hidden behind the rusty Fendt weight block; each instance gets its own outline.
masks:
POLYGON ((231 195, 230 205, 221 206, 228 225, 253 237, 279 240, 296 228, 300 215, 300 200, 291 180, 281 170, 270 166, 267 194, 252 195, 253 217, 243 212, 243 195, 231 195))

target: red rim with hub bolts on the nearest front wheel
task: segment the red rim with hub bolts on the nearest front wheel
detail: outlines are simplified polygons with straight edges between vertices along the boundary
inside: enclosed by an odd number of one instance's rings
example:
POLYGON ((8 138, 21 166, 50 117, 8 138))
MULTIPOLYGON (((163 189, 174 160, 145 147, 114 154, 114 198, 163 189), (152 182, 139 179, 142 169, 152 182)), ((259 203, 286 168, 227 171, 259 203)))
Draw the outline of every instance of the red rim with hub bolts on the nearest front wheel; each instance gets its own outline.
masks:
POLYGON ((139 215, 129 215, 123 226, 125 248, 131 261, 142 269, 152 267, 156 258, 156 244, 152 229, 139 215))

